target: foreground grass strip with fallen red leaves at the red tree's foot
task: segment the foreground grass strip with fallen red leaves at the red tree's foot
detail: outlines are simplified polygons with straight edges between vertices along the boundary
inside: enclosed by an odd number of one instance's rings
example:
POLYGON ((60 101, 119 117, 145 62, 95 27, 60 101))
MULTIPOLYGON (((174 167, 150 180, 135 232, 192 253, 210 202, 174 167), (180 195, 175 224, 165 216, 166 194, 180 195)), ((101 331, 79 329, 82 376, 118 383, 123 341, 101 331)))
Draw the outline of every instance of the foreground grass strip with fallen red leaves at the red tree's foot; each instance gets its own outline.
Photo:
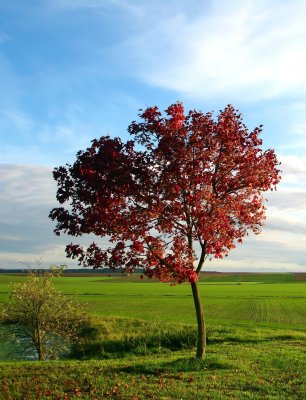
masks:
POLYGON ((103 361, 7 363, 0 399, 275 399, 306 394, 305 343, 222 343, 190 352, 103 361), (304 351, 304 352, 303 352, 304 351))

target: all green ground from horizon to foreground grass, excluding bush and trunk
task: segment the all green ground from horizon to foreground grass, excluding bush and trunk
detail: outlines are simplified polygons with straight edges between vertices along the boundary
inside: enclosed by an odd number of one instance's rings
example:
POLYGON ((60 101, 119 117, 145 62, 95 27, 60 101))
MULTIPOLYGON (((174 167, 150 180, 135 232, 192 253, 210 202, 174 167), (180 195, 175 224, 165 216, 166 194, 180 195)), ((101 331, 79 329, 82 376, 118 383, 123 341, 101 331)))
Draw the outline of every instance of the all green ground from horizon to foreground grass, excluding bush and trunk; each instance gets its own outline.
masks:
MULTIPOLYGON (((22 279, 0 275, 0 301, 10 282, 22 279)), ((103 342, 88 347, 90 357, 103 359, 16 364, 5 362, 3 348, 0 399, 306 399, 306 281, 294 274, 204 276, 202 363, 192 358, 188 284, 121 275, 55 283, 86 303, 103 342), (64 371, 60 379, 56 371, 64 371)))

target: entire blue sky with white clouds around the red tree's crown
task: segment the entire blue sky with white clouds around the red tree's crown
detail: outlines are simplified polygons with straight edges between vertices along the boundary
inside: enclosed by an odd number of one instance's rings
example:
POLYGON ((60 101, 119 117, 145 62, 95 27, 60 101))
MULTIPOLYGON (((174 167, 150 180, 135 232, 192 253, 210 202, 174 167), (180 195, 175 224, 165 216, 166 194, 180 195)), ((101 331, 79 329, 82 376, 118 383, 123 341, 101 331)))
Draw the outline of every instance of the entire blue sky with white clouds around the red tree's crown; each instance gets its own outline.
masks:
POLYGON ((282 163, 262 233, 205 270, 306 272, 305 20, 304 0, 0 0, 0 268, 76 266, 52 170, 181 101, 233 104, 282 163))

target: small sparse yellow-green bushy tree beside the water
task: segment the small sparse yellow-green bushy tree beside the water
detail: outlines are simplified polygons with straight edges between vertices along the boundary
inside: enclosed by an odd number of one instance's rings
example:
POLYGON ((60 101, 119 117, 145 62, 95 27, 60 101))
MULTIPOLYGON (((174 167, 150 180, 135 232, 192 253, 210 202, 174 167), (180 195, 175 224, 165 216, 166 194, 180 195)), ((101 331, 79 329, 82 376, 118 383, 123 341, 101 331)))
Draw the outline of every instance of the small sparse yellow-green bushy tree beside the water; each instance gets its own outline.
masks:
POLYGON ((30 273, 13 284, 9 302, 0 314, 0 340, 19 345, 21 356, 38 360, 56 359, 69 350, 87 320, 72 299, 59 292, 49 273, 30 273))

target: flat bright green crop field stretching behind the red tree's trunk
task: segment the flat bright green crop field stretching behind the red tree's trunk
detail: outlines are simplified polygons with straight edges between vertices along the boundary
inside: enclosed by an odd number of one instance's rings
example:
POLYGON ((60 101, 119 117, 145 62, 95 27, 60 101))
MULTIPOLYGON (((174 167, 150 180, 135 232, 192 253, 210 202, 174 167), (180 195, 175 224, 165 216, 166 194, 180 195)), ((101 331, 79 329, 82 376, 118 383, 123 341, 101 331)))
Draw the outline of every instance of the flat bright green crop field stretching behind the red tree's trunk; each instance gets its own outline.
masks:
MULTIPOLYGON (((0 300, 7 297, 12 280, 22 279, 0 275, 0 300)), ((199 282, 208 323, 303 330, 306 282, 293 279, 293 274, 208 276, 199 282)), ((172 287, 124 276, 63 277, 55 283, 64 293, 86 303, 97 317, 195 323, 188 284, 172 287)))

